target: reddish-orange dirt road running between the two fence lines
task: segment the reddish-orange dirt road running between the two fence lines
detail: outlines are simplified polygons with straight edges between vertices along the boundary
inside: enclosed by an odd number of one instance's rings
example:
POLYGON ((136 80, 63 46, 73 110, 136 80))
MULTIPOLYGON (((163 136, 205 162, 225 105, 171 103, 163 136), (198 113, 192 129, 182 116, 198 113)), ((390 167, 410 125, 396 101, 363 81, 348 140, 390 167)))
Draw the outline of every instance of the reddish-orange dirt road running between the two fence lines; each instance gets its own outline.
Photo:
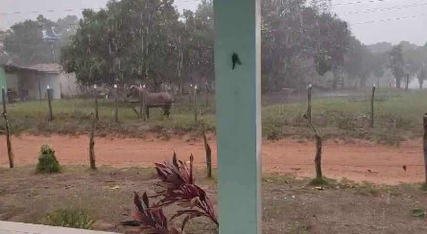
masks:
MULTIPOLYGON (((1 142, 5 136, 0 137, 1 142)), ((34 165, 37 152, 42 144, 48 143, 56 150, 62 164, 87 164, 87 136, 51 137, 21 135, 12 137, 12 147, 17 166, 34 165)), ((213 164, 216 165, 216 142, 212 146, 213 164)), ((205 162, 203 142, 188 142, 181 139, 169 141, 97 138, 95 154, 98 165, 114 167, 152 166, 154 162, 170 159, 172 152, 187 160, 190 153, 195 156, 196 165, 205 162)), ((295 173, 299 177, 313 177, 315 145, 310 141, 285 139, 277 142, 263 141, 263 171, 295 173)), ((6 144, 0 148, 0 165, 6 167, 6 144)), ((365 141, 344 143, 327 141, 323 144, 323 173, 334 179, 347 178, 354 181, 368 181, 378 184, 399 182, 422 182, 424 162, 422 141, 403 142, 399 147, 376 145, 365 141), (406 172, 402 166, 406 165, 406 172)))

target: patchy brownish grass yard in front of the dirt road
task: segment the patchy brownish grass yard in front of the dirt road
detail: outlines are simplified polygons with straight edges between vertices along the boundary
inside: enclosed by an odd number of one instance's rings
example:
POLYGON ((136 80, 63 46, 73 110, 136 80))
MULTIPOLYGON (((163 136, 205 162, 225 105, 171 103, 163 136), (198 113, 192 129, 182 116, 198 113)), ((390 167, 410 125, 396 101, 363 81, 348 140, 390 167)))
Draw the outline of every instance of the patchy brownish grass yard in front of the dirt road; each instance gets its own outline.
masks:
MULTIPOLYGON (((0 169, 0 220, 46 223, 56 210, 79 210, 96 221, 94 229, 123 231, 118 224, 132 219, 133 191, 150 194, 157 183, 150 168, 66 166, 51 175, 34 169, 0 169)), ((202 172, 196 173, 197 183, 216 204, 216 181, 202 172)), ((263 233, 426 233, 425 219, 410 213, 427 208, 426 195, 419 185, 379 187, 343 179, 318 190, 308 180, 264 174, 263 233)), ((191 221, 186 231, 217 233, 203 218, 191 221)))

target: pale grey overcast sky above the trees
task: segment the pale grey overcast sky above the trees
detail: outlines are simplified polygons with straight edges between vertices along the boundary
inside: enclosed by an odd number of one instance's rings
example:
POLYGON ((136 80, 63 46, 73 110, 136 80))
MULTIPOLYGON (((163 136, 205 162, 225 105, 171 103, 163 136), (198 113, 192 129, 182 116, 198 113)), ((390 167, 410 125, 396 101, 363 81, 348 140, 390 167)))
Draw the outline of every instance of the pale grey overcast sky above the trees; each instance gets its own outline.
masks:
MULTIPOLYGON (((52 20, 67 14, 80 16, 81 10, 78 9, 98 9, 104 7, 107 1, 0 0, 0 30, 27 18, 34 19, 40 13, 52 20), (31 11, 38 12, 29 13, 31 11)), ((183 8, 194 10, 198 2, 198 0, 175 0, 180 11, 183 8)), ((332 0, 332 4, 333 11, 350 23, 354 34, 365 44, 377 42, 397 44, 404 40, 424 45, 427 42, 427 0, 332 0)))

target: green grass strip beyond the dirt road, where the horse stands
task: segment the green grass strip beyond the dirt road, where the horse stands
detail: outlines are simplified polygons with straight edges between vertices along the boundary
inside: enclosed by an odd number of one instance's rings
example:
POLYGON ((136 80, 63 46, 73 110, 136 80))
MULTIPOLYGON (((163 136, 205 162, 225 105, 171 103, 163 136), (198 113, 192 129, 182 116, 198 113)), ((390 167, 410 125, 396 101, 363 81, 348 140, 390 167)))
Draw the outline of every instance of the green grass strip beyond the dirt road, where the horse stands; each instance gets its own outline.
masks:
MULTIPOLYGON (((215 103, 210 97, 208 107, 203 96, 199 98, 199 111, 205 112, 203 120, 210 131, 215 131, 212 112, 215 103)), ((93 100, 53 101, 55 120, 47 122, 47 103, 23 102, 8 104, 12 133, 33 134, 81 134, 90 129, 89 113, 93 112, 93 100)), ((98 135, 119 134, 143 138, 155 132, 163 138, 175 134, 199 134, 192 105, 188 97, 182 97, 172 107, 171 118, 166 119, 160 109, 150 110, 150 120, 143 122, 125 104, 119 111, 119 123, 113 121, 114 105, 100 100, 100 123, 98 135)), ((368 127, 370 98, 368 94, 358 97, 321 98, 313 100, 313 124, 324 138, 366 139, 384 144, 398 144, 400 140, 420 136, 422 115, 427 111, 427 92, 392 92, 379 94, 375 99, 375 127, 368 127)), ((307 138, 312 135, 302 114, 306 111, 304 101, 290 104, 275 104, 262 109, 263 135, 271 140, 288 136, 307 138)), ((199 119, 202 113, 199 114, 199 119)), ((0 122, 4 130, 3 119, 0 122)))

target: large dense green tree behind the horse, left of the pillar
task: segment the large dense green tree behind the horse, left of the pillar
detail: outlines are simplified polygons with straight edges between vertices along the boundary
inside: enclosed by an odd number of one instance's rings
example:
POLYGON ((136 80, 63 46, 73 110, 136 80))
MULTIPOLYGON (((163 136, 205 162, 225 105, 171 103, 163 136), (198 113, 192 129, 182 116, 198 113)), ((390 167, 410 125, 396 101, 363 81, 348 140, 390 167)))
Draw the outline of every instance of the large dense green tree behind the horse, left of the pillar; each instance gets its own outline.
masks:
POLYGON ((171 0, 110 1, 85 11, 61 63, 83 84, 141 80, 154 90, 176 73, 178 11, 171 0), (89 56, 90 54, 90 56, 89 56))

